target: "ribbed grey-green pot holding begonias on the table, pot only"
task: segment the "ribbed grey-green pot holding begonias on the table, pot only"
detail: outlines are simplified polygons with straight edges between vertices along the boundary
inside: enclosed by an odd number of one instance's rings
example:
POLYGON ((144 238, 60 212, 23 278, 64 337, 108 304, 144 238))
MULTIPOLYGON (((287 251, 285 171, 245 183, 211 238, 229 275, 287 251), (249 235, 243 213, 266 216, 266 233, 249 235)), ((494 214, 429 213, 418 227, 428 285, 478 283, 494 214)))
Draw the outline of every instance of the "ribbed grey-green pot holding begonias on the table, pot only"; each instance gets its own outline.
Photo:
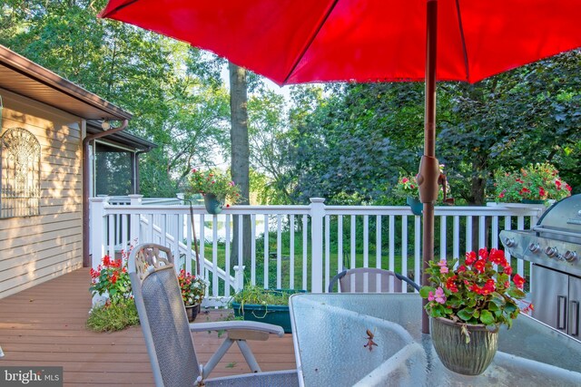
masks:
POLYGON ((470 342, 461 332, 462 324, 445 318, 431 318, 432 343, 439 360, 448 370, 463 375, 479 375, 492 363, 498 348, 498 330, 490 332, 485 325, 469 325, 470 342))

